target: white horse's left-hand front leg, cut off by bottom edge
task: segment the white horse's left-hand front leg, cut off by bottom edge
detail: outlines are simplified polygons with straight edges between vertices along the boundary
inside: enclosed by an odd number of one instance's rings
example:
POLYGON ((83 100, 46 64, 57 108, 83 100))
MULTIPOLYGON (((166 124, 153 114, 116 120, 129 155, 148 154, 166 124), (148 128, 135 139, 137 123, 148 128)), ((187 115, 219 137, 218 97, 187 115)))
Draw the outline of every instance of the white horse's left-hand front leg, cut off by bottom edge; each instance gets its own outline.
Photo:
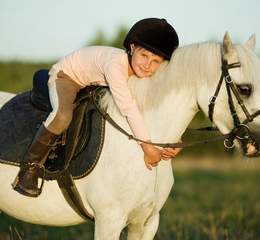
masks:
POLYGON ((112 208, 95 214, 95 240, 119 240, 126 219, 120 211, 112 208))

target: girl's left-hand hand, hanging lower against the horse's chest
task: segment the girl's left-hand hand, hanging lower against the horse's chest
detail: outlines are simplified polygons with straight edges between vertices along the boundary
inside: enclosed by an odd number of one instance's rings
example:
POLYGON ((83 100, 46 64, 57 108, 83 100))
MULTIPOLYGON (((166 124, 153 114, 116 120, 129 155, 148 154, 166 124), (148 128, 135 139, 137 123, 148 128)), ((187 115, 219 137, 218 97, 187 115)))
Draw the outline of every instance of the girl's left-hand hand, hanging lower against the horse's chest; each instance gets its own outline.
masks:
POLYGON ((161 150, 147 143, 142 143, 141 147, 144 151, 144 162, 149 170, 156 167, 161 161, 161 150))

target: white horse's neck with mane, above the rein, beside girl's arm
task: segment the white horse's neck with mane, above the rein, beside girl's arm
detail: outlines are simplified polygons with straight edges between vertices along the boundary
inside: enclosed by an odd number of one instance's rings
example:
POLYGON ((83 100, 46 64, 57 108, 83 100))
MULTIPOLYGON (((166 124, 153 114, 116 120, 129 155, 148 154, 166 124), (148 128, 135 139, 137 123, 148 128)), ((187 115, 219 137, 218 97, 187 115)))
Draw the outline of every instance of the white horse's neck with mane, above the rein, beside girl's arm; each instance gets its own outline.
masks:
MULTIPOLYGON (((198 89, 218 76, 219 56, 217 44, 184 47, 178 49, 171 62, 163 64, 152 78, 129 80, 153 141, 179 140, 198 111, 198 89)), ((123 124, 122 116, 111 104, 112 117, 123 124)))

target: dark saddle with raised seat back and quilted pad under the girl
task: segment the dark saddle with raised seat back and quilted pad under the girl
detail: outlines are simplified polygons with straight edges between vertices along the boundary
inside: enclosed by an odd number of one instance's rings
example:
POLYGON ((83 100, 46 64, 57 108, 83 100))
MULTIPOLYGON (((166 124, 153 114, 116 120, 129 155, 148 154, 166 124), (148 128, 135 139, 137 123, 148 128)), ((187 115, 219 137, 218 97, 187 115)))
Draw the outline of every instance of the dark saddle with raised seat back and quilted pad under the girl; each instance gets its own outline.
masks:
MULTIPOLYGON (((37 129, 52 110, 48 70, 33 77, 33 88, 18 94, 0 109, 0 162, 19 166, 37 129)), ((106 87, 89 86, 76 98, 72 122, 45 163, 45 179, 55 180, 64 170, 73 179, 87 176, 98 162, 105 133, 105 120, 91 97, 106 87)))

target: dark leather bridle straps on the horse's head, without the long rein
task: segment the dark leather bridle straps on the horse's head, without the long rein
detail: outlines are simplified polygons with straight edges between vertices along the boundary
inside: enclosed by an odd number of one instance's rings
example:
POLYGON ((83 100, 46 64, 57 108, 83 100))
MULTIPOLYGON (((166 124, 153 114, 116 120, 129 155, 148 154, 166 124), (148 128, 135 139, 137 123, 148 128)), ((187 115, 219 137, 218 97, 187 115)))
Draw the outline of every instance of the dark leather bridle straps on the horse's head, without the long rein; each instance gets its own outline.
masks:
POLYGON ((258 115, 260 115, 260 110, 257 110, 253 114, 250 114, 248 109, 244 105, 243 99, 239 94, 237 86, 235 85, 234 81, 232 80, 229 74, 229 69, 239 68, 239 67, 241 67, 240 62, 228 64, 227 60, 223 59, 222 57, 222 67, 221 67, 222 73, 220 76, 220 80, 218 82, 214 95, 210 98, 209 105, 208 105, 209 119, 211 122, 213 122, 215 102, 217 100, 223 80, 225 79, 226 90, 228 95, 228 105, 229 105, 229 110, 233 118, 233 124, 234 124, 234 128, 227 135, 228 137, 224 140, 224 146, 226 148, 234 147, 234 139, 238 139, 243 145, 246 145, 248 143, 252 143, 256 145, 256 142, 254 141, 250 128, 248 127, 247 124, 249 122, 252 122, 258 115), (238 104, 240 105, 241 109, 243 110, 246 116, 246 119, 242 123, 237 115, 232 93, 235 96, 238 104))

